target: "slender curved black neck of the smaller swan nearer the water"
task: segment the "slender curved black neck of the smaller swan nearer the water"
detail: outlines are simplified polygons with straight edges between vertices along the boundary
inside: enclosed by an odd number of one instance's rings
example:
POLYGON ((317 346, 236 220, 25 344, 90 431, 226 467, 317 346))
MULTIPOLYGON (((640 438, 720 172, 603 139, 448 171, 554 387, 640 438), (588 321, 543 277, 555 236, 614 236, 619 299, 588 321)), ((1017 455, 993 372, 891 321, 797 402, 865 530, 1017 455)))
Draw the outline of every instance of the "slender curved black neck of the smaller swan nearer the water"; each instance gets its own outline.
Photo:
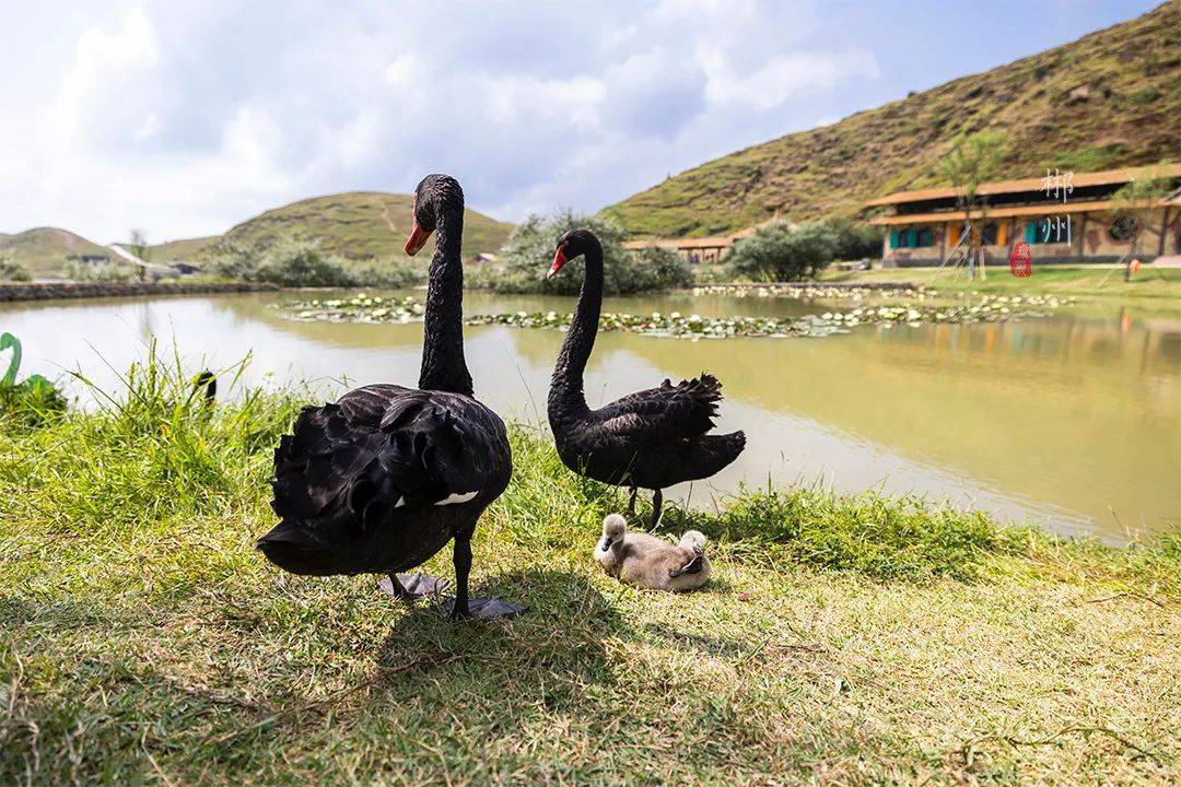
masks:
POLYGON ((590 412, 582 389, 582 374, 587 368, 594 337, 599 333, 599 313, 602 309, 602 249, 594 244, 587 250, 586 275, 579 293, 579 306, 574 310, 562 350, 557 354, 554 376, 549 388, 550 420, 579 418, 590 412))

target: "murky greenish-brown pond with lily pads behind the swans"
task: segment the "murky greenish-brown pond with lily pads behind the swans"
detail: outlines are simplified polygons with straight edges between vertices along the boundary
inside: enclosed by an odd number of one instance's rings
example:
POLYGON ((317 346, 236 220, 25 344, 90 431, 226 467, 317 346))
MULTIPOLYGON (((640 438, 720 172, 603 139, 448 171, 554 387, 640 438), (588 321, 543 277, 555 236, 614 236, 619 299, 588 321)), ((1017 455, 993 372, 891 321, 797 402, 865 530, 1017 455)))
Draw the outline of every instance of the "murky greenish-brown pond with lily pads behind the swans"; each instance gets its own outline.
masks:
MULTIPOLYGON (((253 352, 252 383, 307 380, 326 396, 341 380, 415 385, 420 323, 300 322, 274 308, 308 297, 2 304, 0 330, 24 341, 24 373, 80 369, 107 388, 152 336, 164 349, 175 341, 194 369, 253 352)), ((632 314, 778 317, 833 307, 691 294, 605 303, 632 314)), ((466 314, 572 308, 570 299, 465 296, 466 314)), ((507 418, 544 424, 562 334, 492 324, 465 335, 477 396, 507 418)), ((1114 542, 1181 523, 1181 314, 1166 304, 1081 303, 1036 320, 857 326, 823 339, 606 333, 587 369, 587 399, 595 406, 703 370, 724 383, 719 429, 745 429, 748 447, 709 483, 672 491, 694 506, 723 503, 745 481, 918 493, 1114 542)))

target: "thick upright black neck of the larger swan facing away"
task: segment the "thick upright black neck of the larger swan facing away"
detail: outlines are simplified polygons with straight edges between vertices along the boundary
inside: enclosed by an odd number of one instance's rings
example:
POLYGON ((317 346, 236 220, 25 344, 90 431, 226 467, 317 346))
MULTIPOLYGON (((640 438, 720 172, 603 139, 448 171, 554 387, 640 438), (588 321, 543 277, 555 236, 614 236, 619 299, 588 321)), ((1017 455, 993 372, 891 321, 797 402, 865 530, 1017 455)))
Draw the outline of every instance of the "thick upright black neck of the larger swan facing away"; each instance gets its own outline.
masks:
POLYGON ((458 206, 454 202, 444 202, 435 228, 418 387, 470 396, 471 374, 463 356, 463 196, 458 206))

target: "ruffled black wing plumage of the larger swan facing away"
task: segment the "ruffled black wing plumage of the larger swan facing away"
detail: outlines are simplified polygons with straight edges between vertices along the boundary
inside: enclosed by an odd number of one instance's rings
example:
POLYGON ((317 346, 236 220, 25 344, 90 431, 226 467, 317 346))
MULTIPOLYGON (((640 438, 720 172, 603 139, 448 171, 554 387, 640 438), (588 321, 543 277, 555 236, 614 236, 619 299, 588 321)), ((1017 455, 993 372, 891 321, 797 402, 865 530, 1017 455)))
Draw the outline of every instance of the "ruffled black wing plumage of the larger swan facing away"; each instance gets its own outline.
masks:
POLYGON ((501 487, 510 463, 503 422, 470 398, 358 388, 334 405, 305 407, 281 438, 272 507, 282 522, 259 547, 288 570, 335 572, 285 562, 311 560, 313 546, 315 559, 332 560, 365 533, 397 527, 404 506, 464 503, 501 487))

